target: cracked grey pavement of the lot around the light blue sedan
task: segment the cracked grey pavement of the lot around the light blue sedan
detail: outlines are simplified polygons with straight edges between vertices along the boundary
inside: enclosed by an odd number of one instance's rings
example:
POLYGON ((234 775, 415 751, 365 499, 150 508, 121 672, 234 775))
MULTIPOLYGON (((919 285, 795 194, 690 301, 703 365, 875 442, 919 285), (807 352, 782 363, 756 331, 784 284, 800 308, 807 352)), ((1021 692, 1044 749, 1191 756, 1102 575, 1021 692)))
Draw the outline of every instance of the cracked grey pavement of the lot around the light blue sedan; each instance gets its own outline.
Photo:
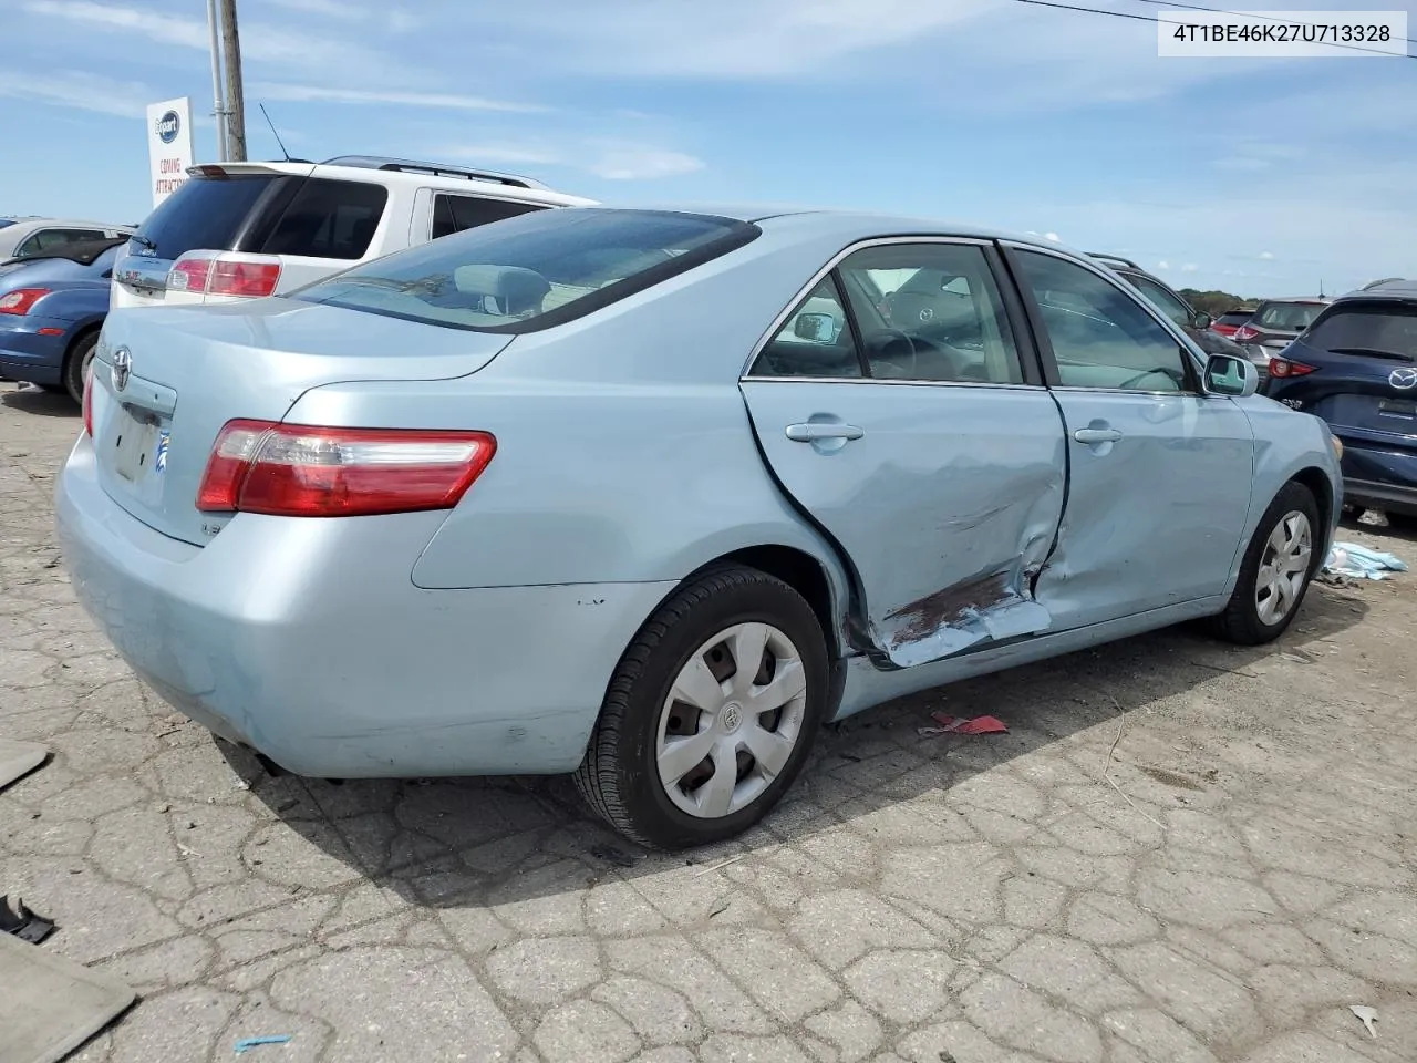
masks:
POLYGON ((143 995, 77 1059, 1417 1059, 1411 577, 1268 651, 1165 632, 869 713, 741 845, 646 857, 561 781, 271 778, 171 714, 60 566, 74 410, 11 387, 0 733, 55 755, 0 795, 0 892, 143 995), (937 707, 1013 731, 921 738, 937 707))

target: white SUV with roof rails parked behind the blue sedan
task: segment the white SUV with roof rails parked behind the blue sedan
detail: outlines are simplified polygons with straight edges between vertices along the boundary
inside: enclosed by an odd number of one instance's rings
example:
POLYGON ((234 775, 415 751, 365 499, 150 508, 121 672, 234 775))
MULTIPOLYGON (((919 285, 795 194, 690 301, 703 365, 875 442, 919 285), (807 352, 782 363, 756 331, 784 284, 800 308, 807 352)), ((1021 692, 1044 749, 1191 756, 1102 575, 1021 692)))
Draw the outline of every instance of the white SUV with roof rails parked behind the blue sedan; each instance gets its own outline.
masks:
POLYGON ((279 295, 489 221, 592 204, 530 177, 361 154, 194 166, 119 252, 109 305, 279 295))

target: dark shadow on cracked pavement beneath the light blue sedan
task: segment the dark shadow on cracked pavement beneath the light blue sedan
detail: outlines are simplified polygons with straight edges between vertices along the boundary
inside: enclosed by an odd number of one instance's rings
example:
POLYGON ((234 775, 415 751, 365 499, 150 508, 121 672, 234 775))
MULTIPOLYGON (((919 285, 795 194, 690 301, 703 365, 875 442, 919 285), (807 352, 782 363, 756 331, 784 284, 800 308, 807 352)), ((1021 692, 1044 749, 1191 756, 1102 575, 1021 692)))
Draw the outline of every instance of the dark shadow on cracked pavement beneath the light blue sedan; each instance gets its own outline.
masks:
MULTIPOLYGON (((938 829, 965 815, 951 795, 972 780, 978 794, 969 799, 982 802, 981 812, 1000 831, 1009 819, 1029 828, 1024 821, 1041 814, 1005 797, 1026 788, 1007 770, 1040 750, 1066 757, 1073 777, 1095 785, 1098 808, 1131 816, 1141 831, 1151 829, 1148 819, 1159 828, 1161 809, 1224 799, 1224 787, 1238 787, 1253 767, 1244 755, 1268 758, 1264 770, 1306 764, 1312 750, 1271 724, 1319 709, 1295 704, 1292 690, 1275 690, 1263 672, 1321 673, 1322 655, 1342 646, 1366 612, 1353 590, 1315 584, 1295 625, 1272 646, 1236 648, 1195 628, 1172 628, 900 699, 823 729, 802 775, 761 825, 682 853, 646 853, 623 840, 581 805, 568 778, 332 782, 273 775, 245 750, 218 747, 290 829, 419 907, 571 903, 588 887, 616 882, 649 894, 706 892, 708 906, 721 892, 711 874, 720 866, 784 850, 809 866, 818 848, 839 846, 843 826, 896 845, 938 840, 938 829), (921 736, 937 710, 996 716, 1009 733, 921 736), (1127 743, 1118 753, 1122 729, 1127 743), (1255 746, 1264 753, 1253 753, 1255 746), (1141 801, 1104 781, 1108 772, 1141 801), (649 877, 673 869, 679 873, 649 877)), ((706 907, 703 914, 716 913, 706 907)))

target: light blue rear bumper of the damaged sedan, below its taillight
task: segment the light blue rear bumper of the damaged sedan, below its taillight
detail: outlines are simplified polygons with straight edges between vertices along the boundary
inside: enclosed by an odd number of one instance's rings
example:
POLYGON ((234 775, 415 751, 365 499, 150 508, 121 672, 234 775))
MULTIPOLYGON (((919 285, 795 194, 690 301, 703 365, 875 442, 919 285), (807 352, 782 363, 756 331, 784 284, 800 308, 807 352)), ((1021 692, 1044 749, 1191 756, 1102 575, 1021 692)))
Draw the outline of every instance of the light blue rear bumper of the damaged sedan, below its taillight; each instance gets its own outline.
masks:
POLYGON ((670 584, 428 591, 441 513, 238 514, 205 547, 129 516, 81 438, 55 493, 74 588, 118 652, 211 731, 315 777, 574 770, 670 584))

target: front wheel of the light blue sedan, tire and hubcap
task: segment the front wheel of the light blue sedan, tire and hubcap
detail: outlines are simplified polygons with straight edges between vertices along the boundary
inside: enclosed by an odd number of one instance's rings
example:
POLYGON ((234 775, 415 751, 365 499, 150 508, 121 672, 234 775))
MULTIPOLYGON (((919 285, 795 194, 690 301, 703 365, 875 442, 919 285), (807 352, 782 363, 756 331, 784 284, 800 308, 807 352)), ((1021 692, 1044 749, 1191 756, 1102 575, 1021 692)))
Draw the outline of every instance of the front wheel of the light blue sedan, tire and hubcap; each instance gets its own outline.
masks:
POLYGON ((1302 483, 1289 482, 1255 527, 1226 611, 1216 618, 1221 638, 1247 646, 1272 642, 1294 622, 1323 561, 1319 507, 1302 483))

